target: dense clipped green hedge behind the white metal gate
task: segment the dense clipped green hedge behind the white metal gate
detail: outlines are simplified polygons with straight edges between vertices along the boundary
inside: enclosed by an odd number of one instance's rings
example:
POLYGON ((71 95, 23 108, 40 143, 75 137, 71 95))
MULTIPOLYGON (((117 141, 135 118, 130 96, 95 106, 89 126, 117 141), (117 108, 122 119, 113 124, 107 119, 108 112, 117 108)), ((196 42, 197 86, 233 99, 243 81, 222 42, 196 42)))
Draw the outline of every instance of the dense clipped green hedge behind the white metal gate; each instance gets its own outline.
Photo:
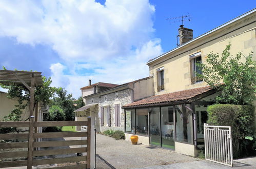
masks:
POLYGON ((246 139, 254 138, 253 112, 251 105, 214 104, 207 108, 209 125, 231 126, 233 157, 255 154, 253 142, 246 139))

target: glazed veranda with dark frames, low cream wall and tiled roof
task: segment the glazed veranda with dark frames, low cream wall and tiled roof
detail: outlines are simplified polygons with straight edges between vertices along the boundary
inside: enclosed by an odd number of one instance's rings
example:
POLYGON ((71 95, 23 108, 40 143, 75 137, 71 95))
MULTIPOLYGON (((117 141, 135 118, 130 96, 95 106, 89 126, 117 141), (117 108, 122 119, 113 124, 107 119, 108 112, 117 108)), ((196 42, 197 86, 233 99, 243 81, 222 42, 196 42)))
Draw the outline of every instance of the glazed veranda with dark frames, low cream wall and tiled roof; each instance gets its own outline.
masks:
POLYGON ((207 106, 215 103, 216 91, 202 87, 124 105, 125 135, 139 136, 139 142, 196 156, 204 146, 207 106))

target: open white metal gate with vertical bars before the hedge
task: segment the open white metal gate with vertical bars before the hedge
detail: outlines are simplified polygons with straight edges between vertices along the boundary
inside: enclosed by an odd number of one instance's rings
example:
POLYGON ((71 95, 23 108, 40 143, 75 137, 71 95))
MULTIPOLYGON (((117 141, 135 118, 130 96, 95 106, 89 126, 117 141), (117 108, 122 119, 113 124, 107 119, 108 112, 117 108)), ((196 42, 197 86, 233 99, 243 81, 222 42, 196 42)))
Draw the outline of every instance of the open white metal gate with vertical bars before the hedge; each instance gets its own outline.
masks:
POLYGON ((233 166, 230 126, 204 124, 205 159, 233 166))

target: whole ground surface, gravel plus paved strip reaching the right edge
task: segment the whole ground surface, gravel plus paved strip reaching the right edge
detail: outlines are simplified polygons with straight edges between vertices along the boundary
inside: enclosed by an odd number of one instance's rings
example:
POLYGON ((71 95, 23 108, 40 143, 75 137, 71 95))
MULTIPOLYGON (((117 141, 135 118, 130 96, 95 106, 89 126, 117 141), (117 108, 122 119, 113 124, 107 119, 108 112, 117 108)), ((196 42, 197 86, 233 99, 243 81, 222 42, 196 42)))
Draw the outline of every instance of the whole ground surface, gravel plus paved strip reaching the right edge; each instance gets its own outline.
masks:
MULTIPOLYGON (((227 168, 222 164, 181 155, 164 149, 132 145, 126 140, 96 135, 96 168, 227 168), (106 165, 106 164, 109 165, 106 165)), ((256 168, 256 157, 234 160, 234 168, 256 168)))

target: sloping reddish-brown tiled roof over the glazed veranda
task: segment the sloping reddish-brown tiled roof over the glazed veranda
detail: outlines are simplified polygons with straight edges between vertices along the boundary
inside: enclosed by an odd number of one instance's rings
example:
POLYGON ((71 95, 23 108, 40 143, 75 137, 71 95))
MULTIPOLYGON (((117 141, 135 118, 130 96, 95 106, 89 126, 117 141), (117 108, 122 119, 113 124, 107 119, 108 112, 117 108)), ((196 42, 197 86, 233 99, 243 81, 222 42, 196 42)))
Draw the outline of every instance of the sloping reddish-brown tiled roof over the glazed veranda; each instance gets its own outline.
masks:
POLYGON ((139 101, 126 104, 123 106, 123 108, 134 107, 136 105, 148 105, 148 104, 165 103, 165 102, 173 102, 173 101, 184 101, 184 100, 193 98, 195 96, 198 96, 200 94, 203 94, 205 92, 208 92, 210 90, 212 90, 212 88, 207 86, 207 87, 183 90, 183 91, 173 92, 168 94, 155 95, 139 101))

